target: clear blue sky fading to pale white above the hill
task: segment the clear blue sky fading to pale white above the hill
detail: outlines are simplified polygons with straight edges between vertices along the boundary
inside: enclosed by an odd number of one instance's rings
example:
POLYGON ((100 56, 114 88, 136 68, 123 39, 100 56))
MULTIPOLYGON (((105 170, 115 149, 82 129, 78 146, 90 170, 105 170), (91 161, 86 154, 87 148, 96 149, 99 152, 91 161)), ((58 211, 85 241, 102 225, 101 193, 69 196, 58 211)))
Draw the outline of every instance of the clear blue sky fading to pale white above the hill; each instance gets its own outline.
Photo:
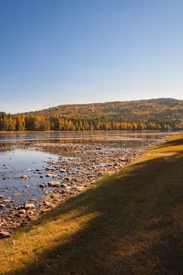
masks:
POLYGON ((182 0, 0 0, 0 111, 183 99, 182 0))

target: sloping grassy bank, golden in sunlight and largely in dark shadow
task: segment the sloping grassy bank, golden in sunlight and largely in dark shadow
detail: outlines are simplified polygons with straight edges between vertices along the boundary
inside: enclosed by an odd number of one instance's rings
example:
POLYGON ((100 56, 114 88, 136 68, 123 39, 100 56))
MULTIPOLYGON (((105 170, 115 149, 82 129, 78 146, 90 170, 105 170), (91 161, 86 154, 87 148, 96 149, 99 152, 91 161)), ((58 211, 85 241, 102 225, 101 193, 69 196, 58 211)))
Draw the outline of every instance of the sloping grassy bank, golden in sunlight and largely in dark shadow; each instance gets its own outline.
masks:
POLYGON ((183 270, 183 135, 0 242, 0 274, 183 270))

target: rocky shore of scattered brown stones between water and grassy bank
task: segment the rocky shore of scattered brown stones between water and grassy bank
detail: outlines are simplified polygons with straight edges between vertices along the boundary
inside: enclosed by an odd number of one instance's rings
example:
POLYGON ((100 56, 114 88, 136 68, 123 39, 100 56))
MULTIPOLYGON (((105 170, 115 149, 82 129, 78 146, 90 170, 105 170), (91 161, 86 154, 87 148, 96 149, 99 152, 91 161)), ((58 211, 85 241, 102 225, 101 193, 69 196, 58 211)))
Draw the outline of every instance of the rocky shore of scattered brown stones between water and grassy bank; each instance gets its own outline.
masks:
MULTIPOLYGON (((87 190, 106 173, 120 170, 142 155, 149 147, 164 142, 166 138, 167 136, 162 135, 160 139, 145 140, 138 148, 121 148, 113 144, 27 142, 23 146, 25 149, 29 147, 35 150, 60 149, 72 151, 75 156, 69 159, 61 156, 57 161, 49 159, 45 168, 34 170, 34 173, 40 174, 38 186, 45 194, 38 206, 36 206, 36 199, 32 198, 21 206, 15 207, 12 198, 4 197, 0 190, 0 239, 10 237, 16 228, 27 225, 43 212, 56 207, 58 203, 87 190)), ((22 175, 25 181, 28 177, 28 175, 22 175)))

